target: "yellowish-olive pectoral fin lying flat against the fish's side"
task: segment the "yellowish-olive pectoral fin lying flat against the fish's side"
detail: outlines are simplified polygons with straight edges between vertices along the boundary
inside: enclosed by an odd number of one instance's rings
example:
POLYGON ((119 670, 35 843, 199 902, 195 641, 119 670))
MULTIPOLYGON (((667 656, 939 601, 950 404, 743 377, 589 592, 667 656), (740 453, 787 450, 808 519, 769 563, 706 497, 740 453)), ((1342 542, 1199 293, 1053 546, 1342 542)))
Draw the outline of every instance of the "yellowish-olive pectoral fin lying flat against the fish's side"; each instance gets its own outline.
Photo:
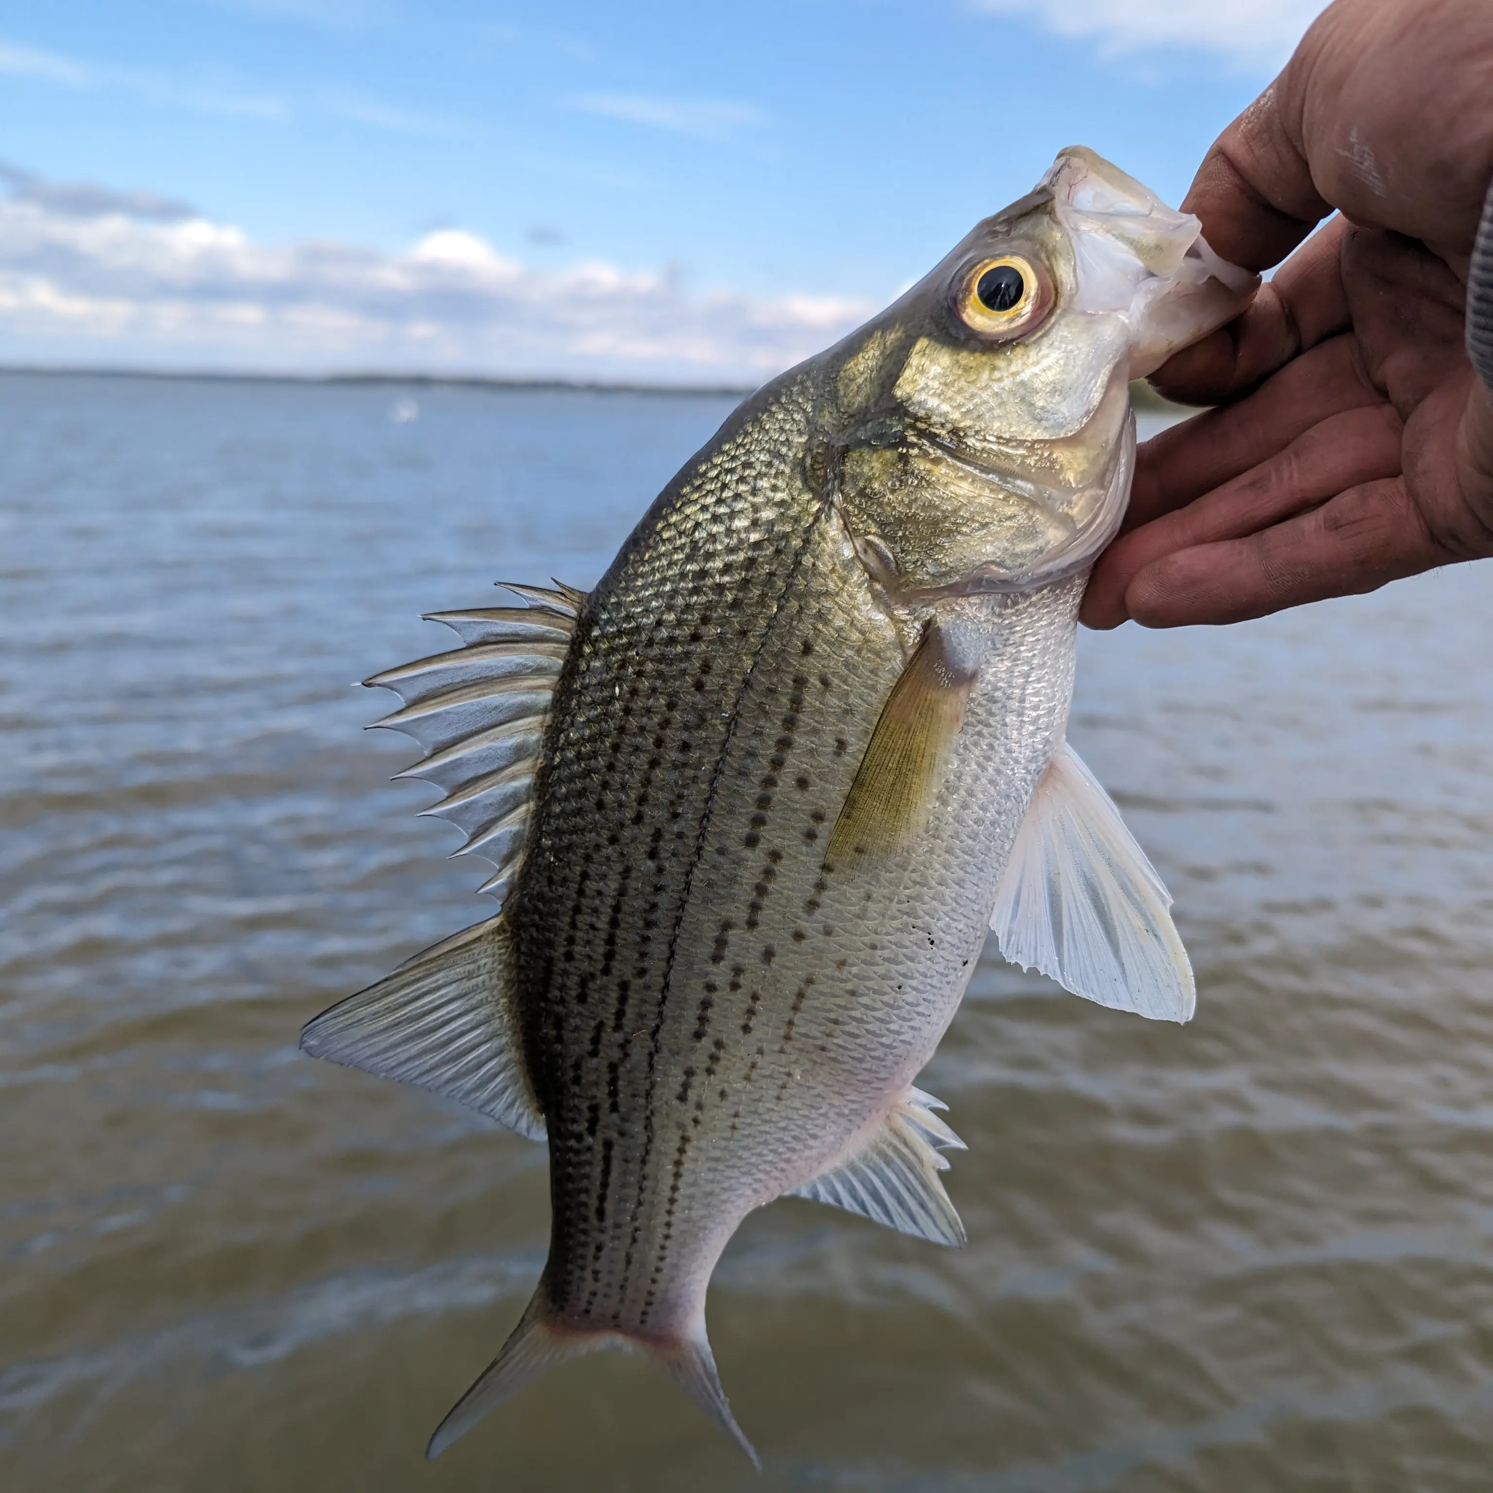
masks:
POLYGON ((854 869, 923 833, 978 673, 978 651, 933 623, 881 708, 826 860, 854 869))

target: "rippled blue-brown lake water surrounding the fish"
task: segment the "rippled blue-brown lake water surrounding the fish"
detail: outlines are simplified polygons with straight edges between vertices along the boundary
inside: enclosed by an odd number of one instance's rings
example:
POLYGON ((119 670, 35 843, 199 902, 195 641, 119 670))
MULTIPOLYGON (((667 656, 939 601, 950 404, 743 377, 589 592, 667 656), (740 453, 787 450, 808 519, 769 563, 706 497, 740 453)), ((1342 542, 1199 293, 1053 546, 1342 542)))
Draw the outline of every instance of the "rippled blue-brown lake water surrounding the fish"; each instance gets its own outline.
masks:
POLYGON ((727 408, 0 378, 0 1487, 1487 1490, 1481 566, 1084 638, 1197 1020, 987 956, 927 1075, 969 1247, 781 1202, 717 1272, 761 1480, 617 1354, 421 1460, 545 1157, 296 1051, 488 906, 348 685, 497 578, 591 584, 727 408))

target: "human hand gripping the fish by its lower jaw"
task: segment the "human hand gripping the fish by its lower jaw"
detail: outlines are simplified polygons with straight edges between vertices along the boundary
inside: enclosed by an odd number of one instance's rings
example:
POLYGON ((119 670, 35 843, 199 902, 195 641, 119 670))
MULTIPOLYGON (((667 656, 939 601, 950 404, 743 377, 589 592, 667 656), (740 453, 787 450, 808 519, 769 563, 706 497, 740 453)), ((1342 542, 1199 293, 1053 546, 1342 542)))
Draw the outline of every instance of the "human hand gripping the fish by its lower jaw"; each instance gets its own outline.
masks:
POLYGON ((1493 554, 1493 400, 1463 345, 1493 176, 1487 0, 1338 0, 1209 151, 1184 208, 1251 269, 1154 378, 1221 402, 1141 446, 1091 627, 1226 623, 1493 554))

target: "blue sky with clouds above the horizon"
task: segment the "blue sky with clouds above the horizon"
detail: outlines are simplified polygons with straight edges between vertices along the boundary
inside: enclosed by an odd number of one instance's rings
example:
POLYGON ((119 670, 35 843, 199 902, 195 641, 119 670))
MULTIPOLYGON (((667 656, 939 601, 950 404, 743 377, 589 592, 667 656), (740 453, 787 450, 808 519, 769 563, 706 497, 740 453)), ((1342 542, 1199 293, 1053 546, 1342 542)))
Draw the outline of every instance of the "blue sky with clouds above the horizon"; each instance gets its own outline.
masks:
POLYGON ((0 364, 751 385, 1321 0, 0 0, 0 364))

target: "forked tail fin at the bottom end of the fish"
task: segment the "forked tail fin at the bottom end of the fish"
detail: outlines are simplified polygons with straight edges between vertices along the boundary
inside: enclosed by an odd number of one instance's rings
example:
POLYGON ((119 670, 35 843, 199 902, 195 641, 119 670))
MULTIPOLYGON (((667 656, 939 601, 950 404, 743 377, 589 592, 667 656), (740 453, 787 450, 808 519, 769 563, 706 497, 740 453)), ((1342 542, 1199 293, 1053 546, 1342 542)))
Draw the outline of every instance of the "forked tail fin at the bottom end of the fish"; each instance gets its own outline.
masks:
POLYGON ((732 1415, 721 1390, 715 1359, 705 1336, 705 1320, 696 1330, 676 1344, 635 1338, 624 1332, 576 1332, 560 1326, 545 1300, 540 1284, 533 1300, 524 1309, 518 1326, 508 1335, 497 1357, 482 1371, 478 1381, 452 1405, 446 1418, 426 1447, 427 1457, 439 1457, 454 1441, 464 1436, 488 1411, 496 1409, 509 1396, 517 1394, 530 1380, 539 1377, 551 1365, 566 1359, 594 1353, 599 1348, 627 1348, 645 1353, 736 1442, 761 1471, 757 1453, 732 1415))

